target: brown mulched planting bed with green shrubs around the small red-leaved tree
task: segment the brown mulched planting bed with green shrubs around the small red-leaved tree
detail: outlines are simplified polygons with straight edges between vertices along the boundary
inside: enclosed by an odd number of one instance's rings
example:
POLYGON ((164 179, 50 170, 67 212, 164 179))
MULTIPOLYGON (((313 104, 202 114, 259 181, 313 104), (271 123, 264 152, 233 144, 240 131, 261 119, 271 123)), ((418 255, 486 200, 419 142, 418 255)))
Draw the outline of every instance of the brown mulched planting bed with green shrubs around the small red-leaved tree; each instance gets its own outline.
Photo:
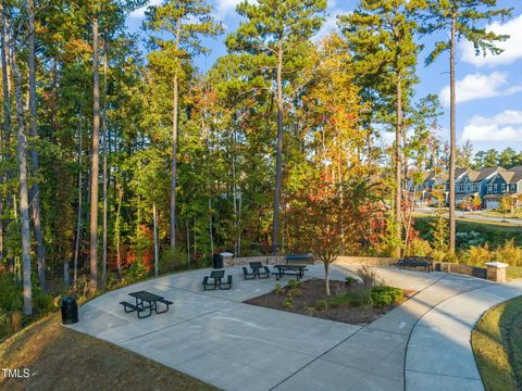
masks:
POLYGON ((394 303, 377 306, 366 301, 365 298, 370 292, 361 282, 349 285, 345 281, 332 280, 328 298, 325 294, 324 280, 314 278, 302 281, 295 288, 276 286, 274 291, 247 300, 245 303, 352 325, 365 325, 417 293, 412 290, 401 291, 403 295, 394 303), (288 300, 289 297, 291 297, 290 300, 288 300))

